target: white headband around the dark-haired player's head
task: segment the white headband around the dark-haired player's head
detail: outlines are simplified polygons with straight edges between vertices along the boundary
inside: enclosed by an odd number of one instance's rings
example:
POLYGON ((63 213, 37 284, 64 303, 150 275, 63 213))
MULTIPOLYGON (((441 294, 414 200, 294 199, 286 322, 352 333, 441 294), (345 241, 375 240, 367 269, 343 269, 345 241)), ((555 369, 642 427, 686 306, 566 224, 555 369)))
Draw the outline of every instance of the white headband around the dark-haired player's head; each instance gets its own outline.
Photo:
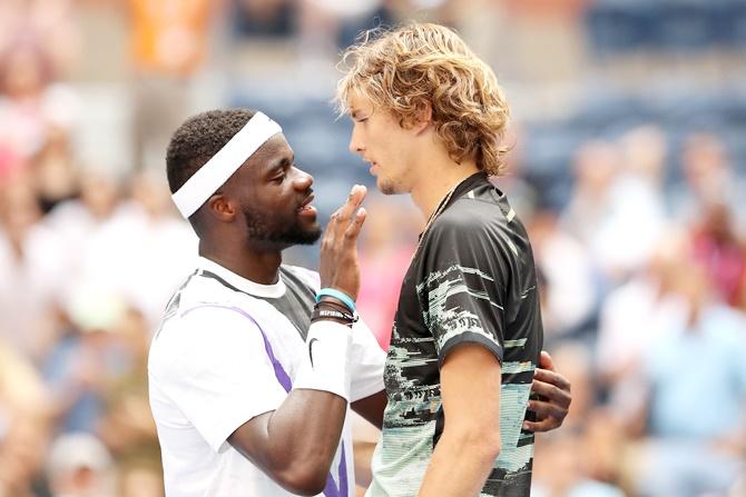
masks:
POLYGON ((282 132, 275 121, 256 112, 192 178, 174 195, 174 203, 185 219, 195 213, 236 170, 269 138, 282 132))

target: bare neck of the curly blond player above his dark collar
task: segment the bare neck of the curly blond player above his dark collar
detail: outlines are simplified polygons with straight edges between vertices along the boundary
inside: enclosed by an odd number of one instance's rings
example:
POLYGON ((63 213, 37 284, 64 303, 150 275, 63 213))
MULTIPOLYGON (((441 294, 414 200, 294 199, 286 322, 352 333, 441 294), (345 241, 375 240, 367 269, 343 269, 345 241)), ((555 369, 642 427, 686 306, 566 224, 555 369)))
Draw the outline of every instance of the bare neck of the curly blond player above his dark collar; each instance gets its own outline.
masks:
POLYGON ((473 160, 455 163, 450 158, 428 168, 426 175, 412 188, 412 200, 425 219, 435 211, 439 203, 460 182, 479 172, 473 160))

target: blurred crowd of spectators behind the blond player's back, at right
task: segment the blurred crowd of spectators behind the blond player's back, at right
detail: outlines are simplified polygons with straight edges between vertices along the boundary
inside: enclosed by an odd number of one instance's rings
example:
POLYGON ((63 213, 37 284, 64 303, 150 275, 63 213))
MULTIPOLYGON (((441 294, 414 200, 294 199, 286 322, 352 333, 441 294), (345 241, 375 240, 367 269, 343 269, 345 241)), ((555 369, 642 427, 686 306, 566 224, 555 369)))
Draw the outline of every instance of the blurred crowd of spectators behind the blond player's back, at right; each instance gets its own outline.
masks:
POLYGON ((537 443, 539 495, 622 495, 599 483, 626 495, 742 495, 743 178, 717 137, 668 150, 655 127, 583 145, 572 173, 563 209, 524 216, 546 346, 573 388, 562 429, 537 443), (667 153, 681 156, 686 177, 669 195, 667 153))

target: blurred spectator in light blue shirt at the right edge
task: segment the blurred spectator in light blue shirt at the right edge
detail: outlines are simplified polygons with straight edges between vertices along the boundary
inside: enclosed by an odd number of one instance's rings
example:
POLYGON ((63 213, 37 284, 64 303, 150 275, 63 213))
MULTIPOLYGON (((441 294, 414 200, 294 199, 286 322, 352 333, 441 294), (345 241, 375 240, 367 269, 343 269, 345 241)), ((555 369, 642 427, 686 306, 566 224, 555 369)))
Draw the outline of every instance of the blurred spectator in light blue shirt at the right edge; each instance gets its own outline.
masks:
POLYGON ((680 266, 669 326, 648 339, 636 370, 647 397, 638 426, 642 495, 720 495, 746 454, 746 317, 711 298, 705 271, 680 266))

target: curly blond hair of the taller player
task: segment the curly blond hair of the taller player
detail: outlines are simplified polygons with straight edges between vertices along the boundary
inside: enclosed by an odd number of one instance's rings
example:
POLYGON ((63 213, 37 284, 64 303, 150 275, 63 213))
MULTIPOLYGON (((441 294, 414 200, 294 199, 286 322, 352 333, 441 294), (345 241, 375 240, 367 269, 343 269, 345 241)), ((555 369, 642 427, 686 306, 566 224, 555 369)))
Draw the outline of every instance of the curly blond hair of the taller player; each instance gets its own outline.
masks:
POLYGON ((354 91, 408 128, 429 103, 451 159, 460 163, 473 158, 488 175, 502 172, 510 116, 504 92, 492 69, 452 30, 414 22, 364 31, 345 50, 340 67, 345 71, 335 97, 340 115, 350 112, 354 91))

